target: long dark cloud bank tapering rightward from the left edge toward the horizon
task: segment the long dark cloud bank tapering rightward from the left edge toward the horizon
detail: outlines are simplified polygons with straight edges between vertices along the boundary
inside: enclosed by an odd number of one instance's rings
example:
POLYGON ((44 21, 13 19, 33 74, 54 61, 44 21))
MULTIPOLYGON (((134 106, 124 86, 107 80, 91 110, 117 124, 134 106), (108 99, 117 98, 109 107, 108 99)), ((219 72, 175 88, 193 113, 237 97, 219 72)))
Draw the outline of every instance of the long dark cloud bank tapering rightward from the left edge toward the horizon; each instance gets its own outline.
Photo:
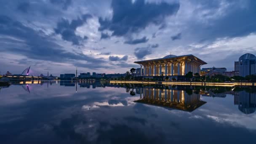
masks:
POLYGON ((0 34, 10 39, 10 41, 0 42, 1 51, 27 56, 29 59, 65 63, 81 60, 99 66, 105 62, 103 59, 95 59, 83 53, 65 51, 44 32, 35 31, 7 16, 0 16, 0 34), (15 43, 13 39, 16 40, 15 43), (5 44, 6 42, 10 43, 5 44))

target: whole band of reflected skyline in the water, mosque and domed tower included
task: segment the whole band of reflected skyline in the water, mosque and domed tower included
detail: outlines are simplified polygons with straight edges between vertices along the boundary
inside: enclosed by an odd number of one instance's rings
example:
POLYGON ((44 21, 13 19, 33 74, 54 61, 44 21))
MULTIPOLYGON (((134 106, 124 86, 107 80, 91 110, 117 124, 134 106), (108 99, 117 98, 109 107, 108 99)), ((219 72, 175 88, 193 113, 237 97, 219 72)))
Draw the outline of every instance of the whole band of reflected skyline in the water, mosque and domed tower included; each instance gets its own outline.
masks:
MULTIPOLYGON (((115 87, 126 88, 126 92, 131 96, 140 96, 135 102, 156 105, 167 109, 179 109, 192 112, 198 107, 204 105, 200 97, 225 98, 228 94, 234 96, 234 104, 244 114, 252 114, 256 111, 256 88, 255 87, 214 87, 214 86, 184 86, 184 85, 138 85, 138 84, 110 84, 107 81, 24 81, 12 83, 12 85, 21 85, 28 93, 31 92, 30 85, 47 85, 50 88, 52 84, 60 86, 70 86, 79 88, 97 88, 97 87, 115 87)), ((0 87, 8 88, 9 86, 0 87)), ((34 89, 35 91, 35 89, 34 89)))

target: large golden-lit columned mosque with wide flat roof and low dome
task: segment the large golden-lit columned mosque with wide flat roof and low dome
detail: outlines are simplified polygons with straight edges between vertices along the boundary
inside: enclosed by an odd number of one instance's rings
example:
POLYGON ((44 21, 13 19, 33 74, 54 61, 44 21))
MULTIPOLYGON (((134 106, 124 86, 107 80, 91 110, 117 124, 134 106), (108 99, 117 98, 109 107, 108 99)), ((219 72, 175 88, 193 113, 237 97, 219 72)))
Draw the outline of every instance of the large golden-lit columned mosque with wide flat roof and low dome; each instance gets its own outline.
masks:
POLYGON ((134 63, 141 66, 141 76, 184 76, 188 72, 200 73, 200 67, 207 64, 192 54, 168 55, 160 59, 135 61, 134 63))

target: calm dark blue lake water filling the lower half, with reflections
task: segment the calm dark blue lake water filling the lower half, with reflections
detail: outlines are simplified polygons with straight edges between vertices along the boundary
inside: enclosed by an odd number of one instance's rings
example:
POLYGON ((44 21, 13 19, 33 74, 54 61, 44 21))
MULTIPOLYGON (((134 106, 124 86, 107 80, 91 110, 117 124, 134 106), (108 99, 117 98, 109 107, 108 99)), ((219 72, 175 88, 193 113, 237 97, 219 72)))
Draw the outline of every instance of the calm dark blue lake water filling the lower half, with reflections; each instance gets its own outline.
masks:
POLYGON ((255 107, 252 87, 13 84, 0 144, 255 144, 255 107))

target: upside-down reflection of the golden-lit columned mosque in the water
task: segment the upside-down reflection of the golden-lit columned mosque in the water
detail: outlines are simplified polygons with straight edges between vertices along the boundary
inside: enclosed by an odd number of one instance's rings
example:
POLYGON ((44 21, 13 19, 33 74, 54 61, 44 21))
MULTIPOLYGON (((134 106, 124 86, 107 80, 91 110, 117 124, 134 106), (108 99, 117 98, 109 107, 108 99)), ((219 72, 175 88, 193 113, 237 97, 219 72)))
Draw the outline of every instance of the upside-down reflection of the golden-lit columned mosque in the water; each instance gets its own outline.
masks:
POLYGON ((139 88, 141 99, 135 101, 144 104, 152 104, 162 107, 170 107, 192 112, 198 107, 205 104, 205 101, 200 100, 200 94, 186 93, 184 90, 178 90, 177 87, 169 86, 165 89, 160 88, 139 88))

